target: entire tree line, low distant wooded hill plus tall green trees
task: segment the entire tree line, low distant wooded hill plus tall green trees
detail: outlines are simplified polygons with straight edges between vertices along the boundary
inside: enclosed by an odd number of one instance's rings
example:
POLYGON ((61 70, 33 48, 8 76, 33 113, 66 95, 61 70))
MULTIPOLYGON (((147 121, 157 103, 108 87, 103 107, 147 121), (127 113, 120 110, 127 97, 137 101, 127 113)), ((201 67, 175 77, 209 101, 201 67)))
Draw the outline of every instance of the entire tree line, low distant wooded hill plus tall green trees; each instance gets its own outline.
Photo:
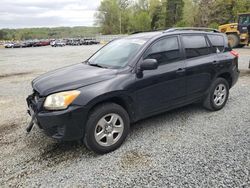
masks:
POLYGON ((0 40, 71 38, 127 34, 170 27, 213 27, 235 22, 250 12, 250 0, 102 0, 98 27, 0 29, 0 40))

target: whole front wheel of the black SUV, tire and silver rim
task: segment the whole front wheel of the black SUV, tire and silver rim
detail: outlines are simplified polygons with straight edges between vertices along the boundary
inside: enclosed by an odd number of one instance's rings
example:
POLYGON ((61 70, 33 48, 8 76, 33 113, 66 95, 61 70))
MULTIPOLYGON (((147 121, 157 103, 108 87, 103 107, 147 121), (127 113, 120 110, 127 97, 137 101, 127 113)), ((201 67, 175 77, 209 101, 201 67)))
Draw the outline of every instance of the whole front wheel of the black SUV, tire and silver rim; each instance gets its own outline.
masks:
POLYGON ((129 132, 129 116, 118 104, 98 105, 90 114, 84 143, 95 153, 104 154, 121 146, 129 132))

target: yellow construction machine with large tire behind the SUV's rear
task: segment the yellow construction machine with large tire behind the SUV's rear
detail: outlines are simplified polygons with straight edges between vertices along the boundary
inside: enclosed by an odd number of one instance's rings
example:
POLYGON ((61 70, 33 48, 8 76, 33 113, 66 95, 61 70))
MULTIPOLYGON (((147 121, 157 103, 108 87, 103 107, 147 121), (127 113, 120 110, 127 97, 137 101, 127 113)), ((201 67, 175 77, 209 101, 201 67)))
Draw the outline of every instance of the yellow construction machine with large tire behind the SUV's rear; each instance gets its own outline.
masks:
POLYGON ((232 48, 241 48, 250 44, 250 13, 238 14, 238 23, 219 26, 219 31, 226 33, 232 48))

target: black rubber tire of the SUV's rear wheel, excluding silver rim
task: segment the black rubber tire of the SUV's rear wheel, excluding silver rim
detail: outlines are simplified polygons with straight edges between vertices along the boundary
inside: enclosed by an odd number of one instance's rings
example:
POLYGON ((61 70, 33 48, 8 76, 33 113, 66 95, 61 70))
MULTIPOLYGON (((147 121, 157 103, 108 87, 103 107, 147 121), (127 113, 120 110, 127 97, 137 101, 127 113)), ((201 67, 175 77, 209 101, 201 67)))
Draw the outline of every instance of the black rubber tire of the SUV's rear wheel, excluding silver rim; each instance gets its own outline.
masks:
MULTIPOLYGON (((211 110, 211 111, 217 111, 217 110, 220 110, 222 109, 226 103, 227 103, 227 100, 228 100, 228 96, 229 96, 229 85, 228 85, 228 82, 224 79, 224 78, 217 78, 211 85, 210 89, 209 89, 209 93, 206 97, 206 99, 204 100, 203 102, 203 106, 205 108, 207 108, 208 110, 211 110), (219 86, 222 86, 224 85, 225 86, 225 98, 223 98, 223 103, 218 103, 216 104, 215 102, 215 98, 216 98, 216 95, 214 94, 215 93, 215 90, 219 87, 219 86)), ((222 102, 222 101, 221 101, 222 102)))

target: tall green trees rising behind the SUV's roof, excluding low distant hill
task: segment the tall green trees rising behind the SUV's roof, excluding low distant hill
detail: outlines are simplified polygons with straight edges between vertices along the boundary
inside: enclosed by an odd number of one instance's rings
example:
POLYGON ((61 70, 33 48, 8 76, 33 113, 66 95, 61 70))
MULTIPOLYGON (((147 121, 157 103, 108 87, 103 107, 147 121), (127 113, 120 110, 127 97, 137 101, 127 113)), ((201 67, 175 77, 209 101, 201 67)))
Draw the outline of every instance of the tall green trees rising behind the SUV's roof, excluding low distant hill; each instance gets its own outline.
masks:
POLYGON ((102 0, 95 14, 103 34, 170 27, 213 27, 250 12, 250 0, 102 0))

